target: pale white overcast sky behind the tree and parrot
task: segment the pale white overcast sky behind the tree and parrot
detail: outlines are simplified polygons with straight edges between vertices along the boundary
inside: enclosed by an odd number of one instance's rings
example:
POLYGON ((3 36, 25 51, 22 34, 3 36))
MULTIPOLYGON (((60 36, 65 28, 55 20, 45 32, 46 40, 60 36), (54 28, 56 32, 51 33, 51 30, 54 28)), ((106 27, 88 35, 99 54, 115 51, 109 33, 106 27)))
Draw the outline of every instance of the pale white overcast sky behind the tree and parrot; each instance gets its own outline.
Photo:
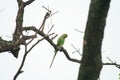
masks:
MULTIPOLYGON (((52 23, 55 24, 52 32, 59 35, 67 33, 64 48, 67 49, 70 56, 81 59, 78 53, 74 51, 71 44, 74 44, 82 53, 83 33, 74 29, 85 30, 88 16, 90 0, 36 0, 25 8, 24 26, 40 26, 46 10, 42 6, 48 7, 53 12, 59 13, 48 19, 46 31, 52 23)), ((106 57, 120 63, 120 0, 112 0, 108 13, 105 35, 102 46, 103 62, 109 62, 106 57)), ((15 18, 17 14, 16 0, 1 0, 0 2, 0 37, 11 40, 15 28, 15 18)), ((57 38, 54 40, 56 42, 57 38)), ((0 80, 12 80, 18 70, 24 47, 21 46, 19 58, 15 59, 8 52, 0 54, 0 80)), ((68 61, 63 53, 58 53, 52 68, 49 65, 54 53, 53 47, 47 42, 40 42, 27 56, 23 67, 24 73, 20 74, 17 80, 77 80, 79 64, 68 61)), ((118 80, 120 70, 114 66, 104 66, 100 80, 118 80)))

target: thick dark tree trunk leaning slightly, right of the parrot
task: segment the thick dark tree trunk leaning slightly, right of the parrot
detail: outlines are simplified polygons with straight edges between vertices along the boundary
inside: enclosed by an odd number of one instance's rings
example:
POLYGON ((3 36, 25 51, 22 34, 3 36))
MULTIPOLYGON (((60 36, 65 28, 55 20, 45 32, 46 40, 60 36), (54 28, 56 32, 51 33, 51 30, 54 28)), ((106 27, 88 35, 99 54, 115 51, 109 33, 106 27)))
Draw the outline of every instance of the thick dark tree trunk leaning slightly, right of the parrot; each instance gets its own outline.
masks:
POLYGON ((98 80, 102 69, 101 45, 111 0, 91 0, 78 80, 98 80))

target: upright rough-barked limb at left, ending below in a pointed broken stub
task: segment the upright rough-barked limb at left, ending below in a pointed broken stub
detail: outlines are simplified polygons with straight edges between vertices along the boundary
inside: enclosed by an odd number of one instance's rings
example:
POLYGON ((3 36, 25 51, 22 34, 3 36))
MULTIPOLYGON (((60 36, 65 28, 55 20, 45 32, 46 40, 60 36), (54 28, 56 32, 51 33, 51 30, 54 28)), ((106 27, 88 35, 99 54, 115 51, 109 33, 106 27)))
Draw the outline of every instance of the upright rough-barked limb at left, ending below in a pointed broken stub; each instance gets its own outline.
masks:
MULTIPOLYGON (((20 36, 23 36, 22 25, 23 25, 23 15, 24 15, 24 3, 22 0, 17 0, 18 2, 18 13, 16 16, 16 27, 13 33, 12 43, 18 43, 20 41, 20 36)), ((16 49, 12 50, 12 54, 17 58, 20 50, 20 45, 16 46, 16 49)))

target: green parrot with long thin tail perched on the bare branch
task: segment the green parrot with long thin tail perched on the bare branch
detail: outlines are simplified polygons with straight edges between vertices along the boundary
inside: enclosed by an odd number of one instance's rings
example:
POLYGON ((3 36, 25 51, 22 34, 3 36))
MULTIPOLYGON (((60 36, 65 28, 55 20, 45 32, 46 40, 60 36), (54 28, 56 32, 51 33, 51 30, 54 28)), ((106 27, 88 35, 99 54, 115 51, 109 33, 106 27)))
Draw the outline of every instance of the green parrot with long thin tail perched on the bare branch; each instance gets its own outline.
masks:
MULTIPOLYGON (((67 34, 63 34, 63 35, 61 35, 61 36, 58 38, 58 40, 57 40, 57 47, 58 47, 59 49, 63 46, 63 44, 64 44, 64 42, 65 42, 65 38, 66 38, 67 36, 68 36, 67 34)), ((58 51, 55 51, 55 54, 54 54, 54 56, 53 56, 53 59, 52 59, 52 62, 51 62, 51 64, 50 64, 50 67, 49 67, 49 68, 51 68, 57 52, 58 52, 58 51)))

